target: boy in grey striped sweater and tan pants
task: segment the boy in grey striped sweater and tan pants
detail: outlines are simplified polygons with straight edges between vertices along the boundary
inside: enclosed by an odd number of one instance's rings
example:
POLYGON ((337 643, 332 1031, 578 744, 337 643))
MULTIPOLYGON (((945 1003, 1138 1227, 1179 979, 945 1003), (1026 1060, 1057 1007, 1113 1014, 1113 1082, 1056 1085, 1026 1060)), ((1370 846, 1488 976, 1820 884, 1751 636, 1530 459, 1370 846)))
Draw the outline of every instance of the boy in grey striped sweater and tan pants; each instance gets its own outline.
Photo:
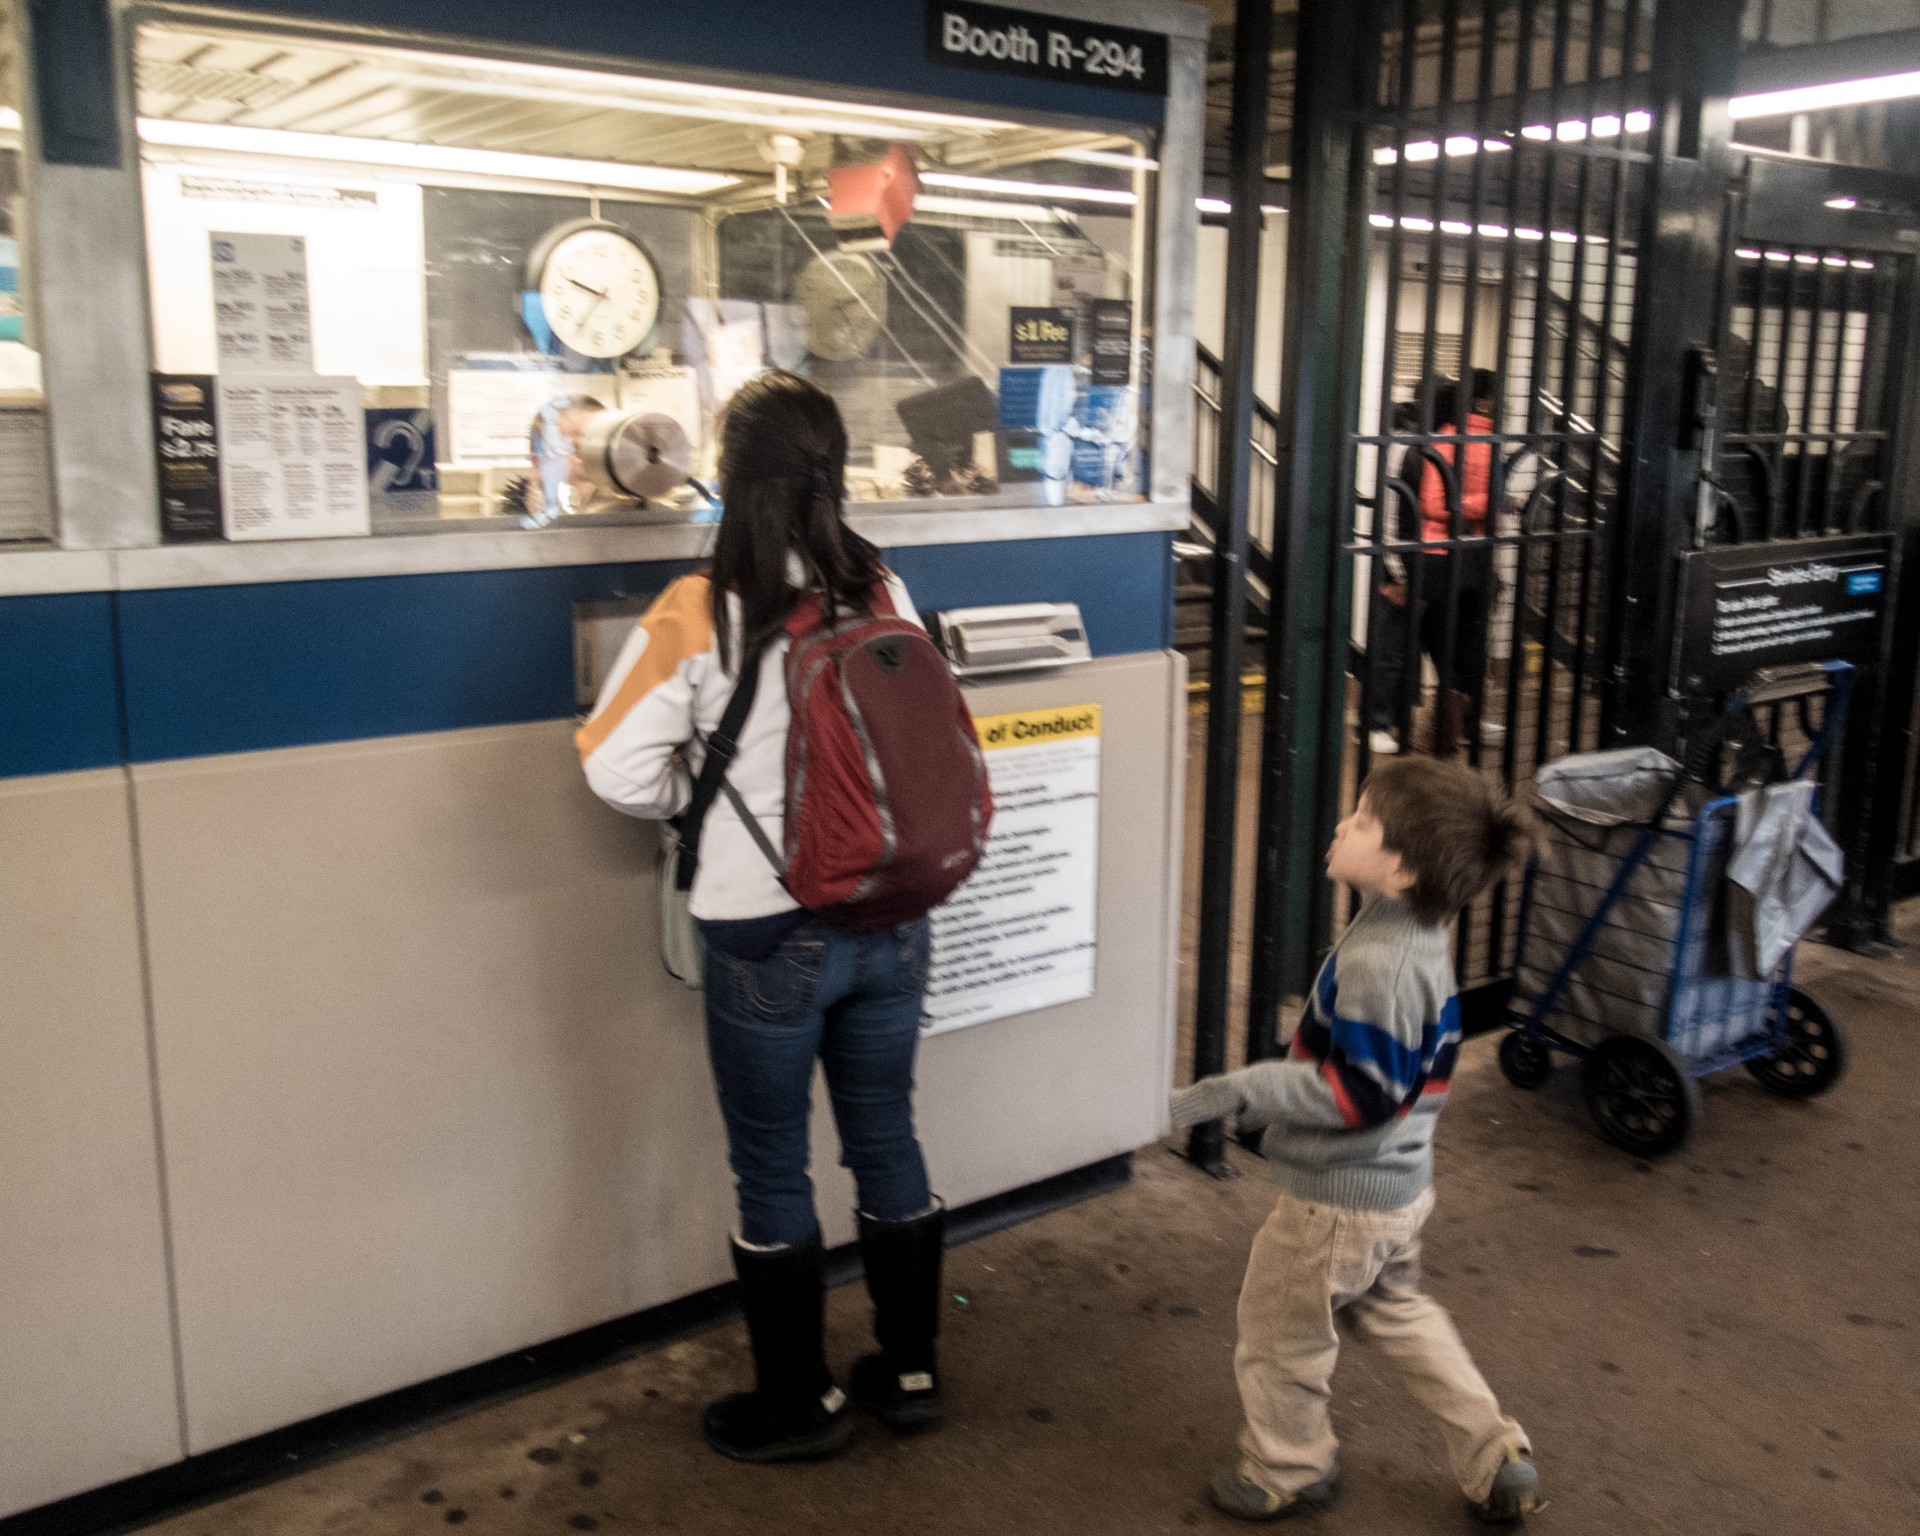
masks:
POLYGON ((1375 770, 1327 852, 1329 877, 1365 904, 1321 966, 1286 1056, 1173 1094, 1179 1129, 1227 1116, 1265 1127, 1283 1188, 1240 1288, 1233 1365, 1246 1427, 1238 1465, 1212 1486, 1229 1515, 1277 1521, 1338 1494, 1327 1398, 1342 1309, 1438 1415, 1473 1511, 1519 1521, 1540 1507, 1524 1430, 1419 1271, 1434 1121, 1459 1050, 1453 918, 1530 839, 1526 814, 1459 762, 1375 770))

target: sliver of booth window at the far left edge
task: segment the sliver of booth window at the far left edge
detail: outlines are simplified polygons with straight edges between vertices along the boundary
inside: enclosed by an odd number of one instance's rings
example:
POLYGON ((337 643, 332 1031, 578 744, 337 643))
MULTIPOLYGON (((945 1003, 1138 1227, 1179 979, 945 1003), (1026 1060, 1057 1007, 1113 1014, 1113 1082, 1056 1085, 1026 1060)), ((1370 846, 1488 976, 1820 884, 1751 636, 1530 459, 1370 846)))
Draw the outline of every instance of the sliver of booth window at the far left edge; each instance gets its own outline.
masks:
POLYGON ((52 534, 15 0, 0 0, 0 547, 52 534))

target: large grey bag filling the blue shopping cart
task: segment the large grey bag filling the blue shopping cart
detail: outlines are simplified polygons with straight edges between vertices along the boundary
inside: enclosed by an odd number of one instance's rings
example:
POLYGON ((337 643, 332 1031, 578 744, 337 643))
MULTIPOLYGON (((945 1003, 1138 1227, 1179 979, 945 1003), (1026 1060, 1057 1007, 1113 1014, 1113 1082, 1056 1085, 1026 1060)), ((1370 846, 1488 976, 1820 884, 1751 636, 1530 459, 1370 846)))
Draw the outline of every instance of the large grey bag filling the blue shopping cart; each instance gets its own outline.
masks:
MULTIPOLYGON (((1684 785, 1676 795, 1680 772, 1653 747, 1622 747, 1563 756, 1534 776, 1534 810, 1546 837, 1515 977, 1521 998, 1546 995, 1642 828, 1661 816, 1661 826, 1688 829, 1701 791, 1684 785)), ((1569 1039, 1597 1044, 1607 1035, 1663 1033, 1690 849, 1682 837, 1655 837, 1626 877, 1620 900, 1553 1008, 1553 1027, 1569 1039)))

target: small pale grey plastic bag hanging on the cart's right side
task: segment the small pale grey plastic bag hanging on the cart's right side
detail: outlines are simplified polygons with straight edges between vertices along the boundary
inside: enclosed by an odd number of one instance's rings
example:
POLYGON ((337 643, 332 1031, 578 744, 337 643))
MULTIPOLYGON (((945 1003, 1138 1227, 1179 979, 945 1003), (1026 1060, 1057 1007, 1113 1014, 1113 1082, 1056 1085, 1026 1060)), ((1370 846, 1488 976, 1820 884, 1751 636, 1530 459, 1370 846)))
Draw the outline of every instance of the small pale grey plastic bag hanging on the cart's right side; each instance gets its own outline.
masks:
POLYGON ((1814 814, 1812 780, 1770 783, 1740 797, 1726 864, 1728 950, 1734 972, 1770 977, 1839 895, 1845 856, 1814 814))

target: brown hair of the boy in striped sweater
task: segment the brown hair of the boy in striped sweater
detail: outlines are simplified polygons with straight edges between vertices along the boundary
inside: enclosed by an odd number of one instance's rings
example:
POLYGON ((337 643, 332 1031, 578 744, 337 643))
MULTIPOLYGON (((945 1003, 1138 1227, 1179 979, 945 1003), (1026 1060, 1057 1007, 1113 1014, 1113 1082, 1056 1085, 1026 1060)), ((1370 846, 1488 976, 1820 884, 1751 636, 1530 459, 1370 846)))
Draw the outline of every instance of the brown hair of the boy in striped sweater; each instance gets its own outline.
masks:
POLYGON ((1413 889, 1407 906, 1423 924, 1450 922, 1534 851, 1534 818, 1463 762, 1402 756, 1359 787, 1380 822, 1380 847, 1400 854, 1413 889))

